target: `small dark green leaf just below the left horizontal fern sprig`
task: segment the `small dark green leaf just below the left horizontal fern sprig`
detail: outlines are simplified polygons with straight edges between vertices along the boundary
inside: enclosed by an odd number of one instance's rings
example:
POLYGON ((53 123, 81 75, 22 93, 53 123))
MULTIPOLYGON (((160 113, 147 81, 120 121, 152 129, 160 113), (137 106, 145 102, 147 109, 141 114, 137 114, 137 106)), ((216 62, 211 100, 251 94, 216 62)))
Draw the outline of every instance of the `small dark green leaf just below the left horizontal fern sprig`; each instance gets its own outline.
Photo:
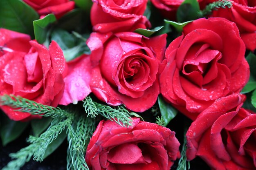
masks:
POLYGON ((42 119, 34 119, 31 121, 31 127, 34 136, 38 137, 41 135, 43 131, 48 128, 48 126, 51 124, 52 118, 50 117, 43 117, 42 119))

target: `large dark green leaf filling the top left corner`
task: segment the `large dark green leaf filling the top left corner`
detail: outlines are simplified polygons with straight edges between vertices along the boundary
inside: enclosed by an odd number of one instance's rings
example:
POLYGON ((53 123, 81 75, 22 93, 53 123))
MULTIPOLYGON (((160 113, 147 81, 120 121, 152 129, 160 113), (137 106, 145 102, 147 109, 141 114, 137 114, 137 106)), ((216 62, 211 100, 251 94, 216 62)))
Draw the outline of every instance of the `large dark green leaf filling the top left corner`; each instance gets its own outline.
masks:
POLYGON ((20 0, 0 0, 0 27, 34 37, 33 21, 37 12, 20 0))

